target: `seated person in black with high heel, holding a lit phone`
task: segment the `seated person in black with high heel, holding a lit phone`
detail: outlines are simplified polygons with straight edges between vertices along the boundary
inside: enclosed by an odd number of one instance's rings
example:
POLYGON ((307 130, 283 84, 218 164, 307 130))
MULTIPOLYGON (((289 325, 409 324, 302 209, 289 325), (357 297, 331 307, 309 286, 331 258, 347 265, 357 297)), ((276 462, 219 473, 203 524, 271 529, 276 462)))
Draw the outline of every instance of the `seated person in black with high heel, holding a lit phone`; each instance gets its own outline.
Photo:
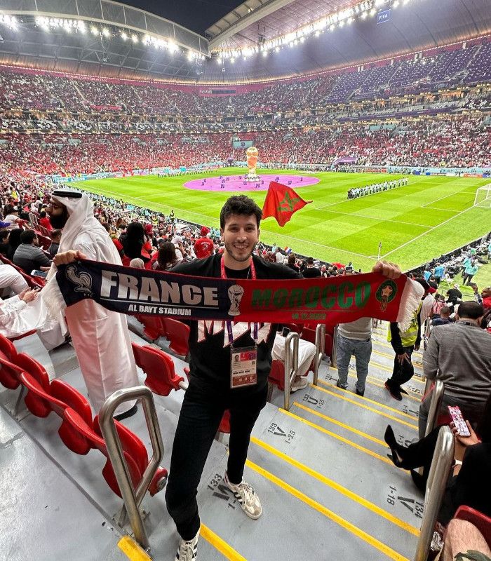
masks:
MULTIPOLYGON (((465 417, 465 416, 464 416, 465 417)), ((478 419, 478 436, 469 421, 466 421, 470 436, 460 436, 450 424, 455 435, 455 465, 448 479, 443 501, 438 513, 438 522, 447 525, 461 505, 475 508, 491 516, 491 396, 485 402, 485 408, 478 419)), ((429 475, 433 452, 441 426, 418 442, 404 447, 396 441, 391 426, 385 431, 385 441, 391 449, 391 460, 398 468, 414 470, 423 467, 420 475, 411 471, 412 480, 419 489, 424 490, 429 475)))

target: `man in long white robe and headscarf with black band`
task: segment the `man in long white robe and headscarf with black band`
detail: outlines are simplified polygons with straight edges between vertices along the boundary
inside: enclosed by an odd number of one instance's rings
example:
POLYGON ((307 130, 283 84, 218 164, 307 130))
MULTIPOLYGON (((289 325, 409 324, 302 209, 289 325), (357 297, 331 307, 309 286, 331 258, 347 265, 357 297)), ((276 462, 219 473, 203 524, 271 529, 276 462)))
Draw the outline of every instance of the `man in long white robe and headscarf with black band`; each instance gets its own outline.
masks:
MULTIPOLYGON (((47 210, 53 228, 63 229, 63 232, 58 254, 48 273, 51 280, 41 291, 41 296, 51 315, 58 316, 63 322, 60 310, 65 303, 58 297, 56 265, 74 259, 121 265, 121 257, 106 229, 94 217, 93 203, 88 195, 73 189, 57 189, 53 191, 47 210)), ((90 403, 98 413, 116 390, 138 385, 126 316, 109 311, 93 300, 83 299, 65 310, 65 318, 90 403)), ((123 403, 116 410, 115 417, 120 420, 130 417, 136 409, 134 401, 123 403)))

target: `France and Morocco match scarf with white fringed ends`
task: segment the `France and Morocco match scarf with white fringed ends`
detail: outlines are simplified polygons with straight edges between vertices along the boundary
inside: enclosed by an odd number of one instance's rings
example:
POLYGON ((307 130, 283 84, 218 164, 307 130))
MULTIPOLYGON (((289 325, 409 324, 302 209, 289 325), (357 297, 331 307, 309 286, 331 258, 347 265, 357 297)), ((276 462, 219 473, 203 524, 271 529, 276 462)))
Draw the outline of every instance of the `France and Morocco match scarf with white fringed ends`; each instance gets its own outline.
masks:
MULTIPOLYGON (((409 325, 423 295, 405 275, 234 279, 133 269, 81 259, 58 266, 41 291, 51 315, 83 299, 121 313, 180 320, 346 323, 358 318, 409 325)), ((404 329, 403 329, 404 330, 404 329)))

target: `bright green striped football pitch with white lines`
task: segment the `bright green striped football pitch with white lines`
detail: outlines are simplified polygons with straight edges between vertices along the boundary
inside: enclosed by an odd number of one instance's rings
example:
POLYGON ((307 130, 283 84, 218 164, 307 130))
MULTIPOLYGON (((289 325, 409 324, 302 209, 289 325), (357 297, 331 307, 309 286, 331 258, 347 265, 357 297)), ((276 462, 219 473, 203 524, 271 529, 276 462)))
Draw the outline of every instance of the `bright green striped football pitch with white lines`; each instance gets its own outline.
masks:
MULTIPOLYGON (((258 172, 261 174, 261 170, 258 172)), ((165 214, 174 209, 177 218, 219 227, 220 208, 232 193, 191 190, 183 185, 198 177, 241 173, 243 168, 221 168, 202 175, 90 180, 77 187, 165 214)), ((262 173, 314 176, 319 180, 307 187, 295 187, 302 198, 313 202, 293 215, 285 227, 278 227, 273 218, 262 222, 262 241, 330 262, 351 261, 363 271, 375 263, 379 243, 382 258, 407 270, 473 241, 490 229, 491 210, 473 207, 476 189, 489 180, 412 175, 406 187, 348 201, 347 191, 352 187, 403 176, 291 170, 262 173)), ((260 207, 266 196, 265 191, 248 186, 234 192, 240 193, 248 194, 260 207)))

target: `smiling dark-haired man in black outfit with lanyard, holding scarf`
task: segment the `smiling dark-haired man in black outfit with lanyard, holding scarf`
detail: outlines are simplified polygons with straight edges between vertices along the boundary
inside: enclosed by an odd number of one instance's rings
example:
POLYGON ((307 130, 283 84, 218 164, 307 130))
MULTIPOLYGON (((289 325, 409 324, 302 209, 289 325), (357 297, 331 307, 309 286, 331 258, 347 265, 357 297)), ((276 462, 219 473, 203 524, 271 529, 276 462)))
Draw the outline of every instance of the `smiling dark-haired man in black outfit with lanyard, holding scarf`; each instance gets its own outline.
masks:
MULTIPOLYGON (((173 273, 221 278, 299 279, 283 264, 253 256, 262 211, 247 196, 232 196, 220 212, 223 255, 182 263, 173 273)), ((398 278, 398 266, 377 263, 374 272, 398 278)), ((250 433, 267 400, 267 380, 276 325, 192 321, 189 333, 190 377, 174 438, 167 508, 180 543, 175 559, 196 560, 200 519, 196 492, 208 452, 225 410, 230 411, 230 440, 224 484, 242 510, 256 520, 262 506, 255 489, 243 481, 250 433), (238 367, 245 382, 236 376, 238 367)))

